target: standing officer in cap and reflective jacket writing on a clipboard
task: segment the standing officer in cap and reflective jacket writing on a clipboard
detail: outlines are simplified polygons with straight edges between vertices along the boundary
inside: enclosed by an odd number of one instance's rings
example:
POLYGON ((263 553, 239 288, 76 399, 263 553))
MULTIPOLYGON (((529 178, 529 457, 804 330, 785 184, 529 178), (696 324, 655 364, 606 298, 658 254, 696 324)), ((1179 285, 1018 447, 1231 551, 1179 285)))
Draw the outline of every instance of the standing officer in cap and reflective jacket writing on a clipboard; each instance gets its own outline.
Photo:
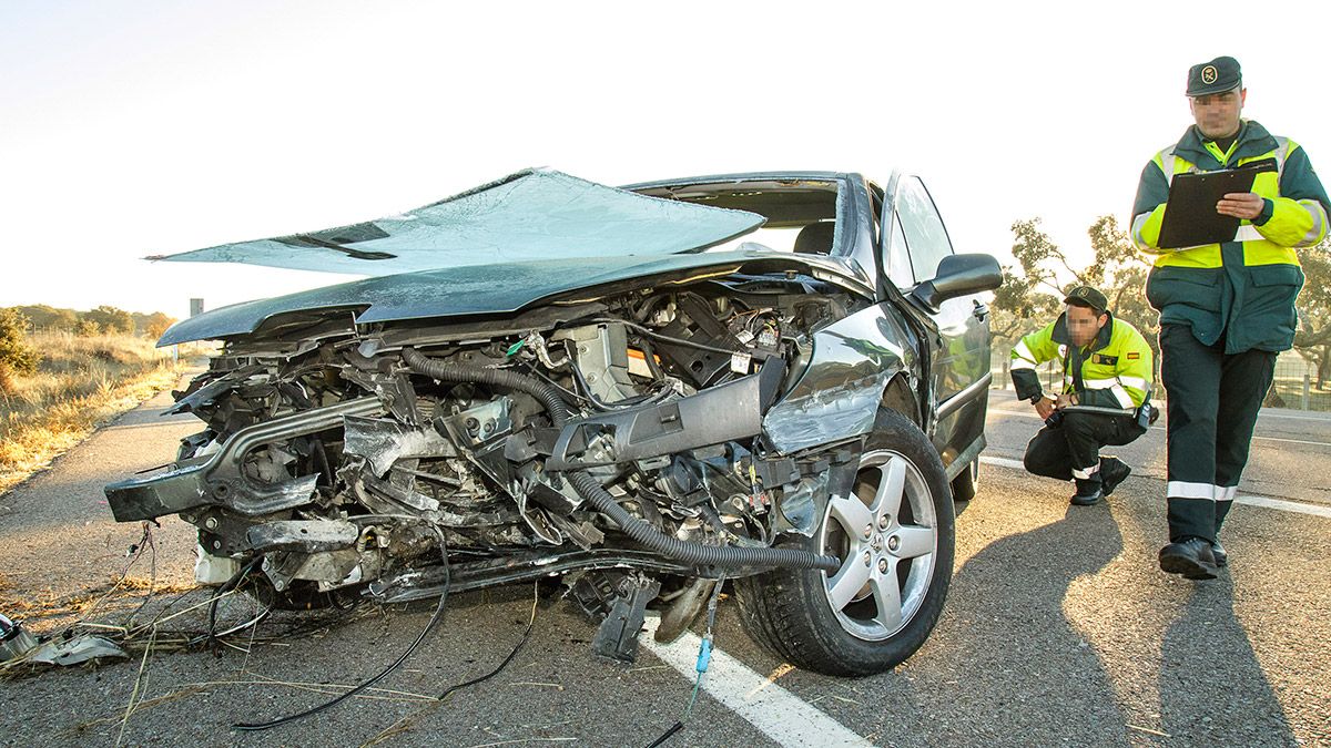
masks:
POLYGON ((1133 242, 1155 256, 1146 298, 1161 313, 1162 379, 1169 394, 1169 535, 1161 568, 1213 579, 1227 559, 1218 535, 1247 463, 1275 357, 1294 343, 1303 286, 1296 248, 1327 234, 1331 201, 1307 153, 1239 113, 1247 89, 1234 57, 1187 73, 1195 124, 1155 154, 1133 205, 1133 242), (1215 204, 1240 218, 1231 241, 1159 249, 1175 174, 1255 166, 1252 192, 1215 204))

